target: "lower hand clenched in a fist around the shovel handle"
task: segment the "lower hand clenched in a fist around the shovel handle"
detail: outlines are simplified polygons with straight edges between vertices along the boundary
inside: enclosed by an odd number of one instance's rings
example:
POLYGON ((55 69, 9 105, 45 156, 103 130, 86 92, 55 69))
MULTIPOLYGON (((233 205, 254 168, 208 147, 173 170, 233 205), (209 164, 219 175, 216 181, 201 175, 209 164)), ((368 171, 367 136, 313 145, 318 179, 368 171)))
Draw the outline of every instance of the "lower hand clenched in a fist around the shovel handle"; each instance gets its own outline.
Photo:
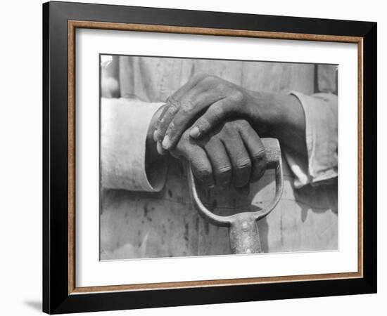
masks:
POLYGON ((258 180, 266 169, 265 147, 258 134, 243 119, 227 121, 208 136, 194 140, 185 131, 171 153, 184 157, 198 183, 243 187, 258 180))

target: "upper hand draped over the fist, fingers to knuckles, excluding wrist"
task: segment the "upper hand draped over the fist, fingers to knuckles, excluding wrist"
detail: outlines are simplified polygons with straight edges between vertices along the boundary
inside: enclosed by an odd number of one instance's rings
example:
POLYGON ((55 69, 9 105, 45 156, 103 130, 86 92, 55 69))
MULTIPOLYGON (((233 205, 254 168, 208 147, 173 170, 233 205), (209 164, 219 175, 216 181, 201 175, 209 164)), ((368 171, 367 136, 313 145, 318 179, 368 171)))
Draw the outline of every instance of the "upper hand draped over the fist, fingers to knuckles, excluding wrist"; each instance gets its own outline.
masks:
POLYGON ((198 74, 168 98, 153 138, 171 150, 194 119, 189 135, 198 138, 227 117, 253 116, 259 117, 260 110, 249 91, 219 77, 198 74))

